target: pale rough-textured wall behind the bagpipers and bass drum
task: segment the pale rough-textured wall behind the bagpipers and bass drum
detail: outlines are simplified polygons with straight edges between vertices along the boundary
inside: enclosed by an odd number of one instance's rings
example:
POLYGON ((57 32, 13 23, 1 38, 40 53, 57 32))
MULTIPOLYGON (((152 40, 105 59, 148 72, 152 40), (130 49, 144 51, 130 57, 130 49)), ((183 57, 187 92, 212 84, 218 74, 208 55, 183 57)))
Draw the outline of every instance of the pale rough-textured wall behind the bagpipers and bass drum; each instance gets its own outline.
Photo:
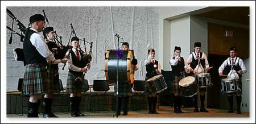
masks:
MULTIPOLYGON (((158 7, 7 7, 20 22, 27 27, 29 17, 34 14, 43 14, 45 10, 50 26, 54 27, 57 34, 63 37, 64 45, 67 45, 71 34, 71 26, 76 35, 88 42, 93 42, 92 67, 85 78, 89 84, 94 79, 105 79, 104 53, 107 49, 117 48, 117 38, 114 33, 121 35, 124 42, 130 43, 130 49, 134 49, 138 59, 139 70, 135 72, 135 80, 143 80, 146 75, 144 60, 147 55, 147 44, 158 51, 159 42, 159 13, 158 7)), ((12 19, 6 15, 6 25, 11 27, 12 19)), ((20 32, 14 21, 14 31, 20 32)), ((10 30, 7 30, 9 33, 10 30)), ((74 35, 72 35, 74 36, 74 35)), ((10 35, 7 35, 6 42, 10 35)), ((84 50, 84 43, 80 43, 84 50)), ((13 43, 7 43, 7 91, 16 90, 18 78, 24 75, 22 61, 15 61, 13 49, 22 48, 18 35, 13 35, 13 43)), ((86 44, 89 52, 89 44, 86 44)), ((156 53, 156 59, 158 59, 156 53)), ((61 70, 63 64, 59 64, 60 78, 66 85, 68 69, 61 70)))

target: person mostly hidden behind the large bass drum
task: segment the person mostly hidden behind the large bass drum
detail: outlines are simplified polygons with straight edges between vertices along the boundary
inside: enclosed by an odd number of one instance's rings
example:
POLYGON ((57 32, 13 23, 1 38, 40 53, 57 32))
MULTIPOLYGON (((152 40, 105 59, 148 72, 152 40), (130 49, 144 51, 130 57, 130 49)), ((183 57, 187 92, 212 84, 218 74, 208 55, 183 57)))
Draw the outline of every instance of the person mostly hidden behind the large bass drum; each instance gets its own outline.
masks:
MULTIPOLYGON (((122 49, 123 50, 129 50, 129 43, 123 42, 122 43, 122 49)), ((133 59, 131 61, 132 66, 134 67, 134 70, 137 71, 137 59, 133 59)), ((132 96, 131 92, 132 85, 128 81, 118 81, 118 100, 117 100, 117 115, 121 115, 121 105, 122 105, 122 100, 123 100, 123 114, 122 115, 127 115, 128 114, 128 102, 130 96, 132 96)), ((116 90, 116 88, 114 88, 116 90)), ((114 94, 115 96, 117 94, 114 94)))

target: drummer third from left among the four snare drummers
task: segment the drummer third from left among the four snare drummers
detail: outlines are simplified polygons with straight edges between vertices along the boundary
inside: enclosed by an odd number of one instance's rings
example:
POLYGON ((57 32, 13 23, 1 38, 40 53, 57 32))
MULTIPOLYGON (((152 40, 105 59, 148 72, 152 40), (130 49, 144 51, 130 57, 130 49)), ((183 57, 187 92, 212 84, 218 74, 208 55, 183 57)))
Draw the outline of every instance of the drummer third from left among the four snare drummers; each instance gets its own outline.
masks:
MULTIPOLYGON (((187 64, 190 65, 190 67, 193 69, 193 72, 195 73, 201 73, 204 72, 205 69, 207 71, 210 70, 209 63, 207 60, 207 56, 204 52, 201 52, 201 43, 195 42, 194 44, 194 51, 188 56, 187 64), (199 61, 200 60, 200 61, 199 61), (199 65, 200 64, 200 65, 199 65), (200 68, 203 67, 203 68, 200 68)), ((193 74, 191 74, 193 75, 193 74)), ((204 101, 205 101, 205 88, 200 88, 200 101, 201 101, 201 112, 209 112, 204 108, 204 101)), ((195 110, 194 112, 199 112, 198 106, 197 106, 197 95, 194 96, 195 101, 195 110)))

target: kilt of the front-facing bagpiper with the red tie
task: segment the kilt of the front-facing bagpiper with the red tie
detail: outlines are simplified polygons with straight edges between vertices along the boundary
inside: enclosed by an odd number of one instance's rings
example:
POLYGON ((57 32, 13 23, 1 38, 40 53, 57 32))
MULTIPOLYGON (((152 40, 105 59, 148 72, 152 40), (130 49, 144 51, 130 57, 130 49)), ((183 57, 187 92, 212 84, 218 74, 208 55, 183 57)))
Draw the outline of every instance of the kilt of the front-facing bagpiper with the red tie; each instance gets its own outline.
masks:
POLYGON ((72 73, 73 77, 71 74, 71 72, 68 72, 68 79, 67 79, 67 85, 66 85, 66 92, 67 93, 81 93, 81 92, 86 92, 86 83, 84 80, 84 76, 82 73, 77 73, 74 74, 72 73), (76 83, 75 79, 76 77, 81 77, 82 81, 79 83, 76 83))

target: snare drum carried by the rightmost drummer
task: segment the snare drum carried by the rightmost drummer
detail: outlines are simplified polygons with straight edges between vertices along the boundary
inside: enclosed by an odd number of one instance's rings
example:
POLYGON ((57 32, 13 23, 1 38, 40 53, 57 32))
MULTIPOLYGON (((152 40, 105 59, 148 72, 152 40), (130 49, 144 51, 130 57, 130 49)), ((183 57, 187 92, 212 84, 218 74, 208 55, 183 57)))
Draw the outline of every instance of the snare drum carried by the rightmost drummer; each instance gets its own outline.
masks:
POLYGON ((237 78, 223 78, 221 80, 221 93, 237 93, 241 92, 241 87, 237 78))

